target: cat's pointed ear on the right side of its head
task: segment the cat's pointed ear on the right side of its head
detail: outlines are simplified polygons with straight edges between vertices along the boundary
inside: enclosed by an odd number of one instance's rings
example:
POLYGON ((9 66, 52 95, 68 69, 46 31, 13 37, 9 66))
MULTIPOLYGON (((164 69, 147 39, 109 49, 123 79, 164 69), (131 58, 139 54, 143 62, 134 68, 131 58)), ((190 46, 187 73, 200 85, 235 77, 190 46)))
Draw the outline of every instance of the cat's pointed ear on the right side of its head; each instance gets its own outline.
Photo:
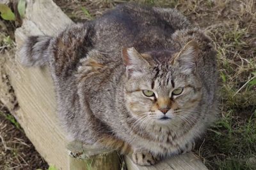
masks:
POLYGON ((170 62, 178 66, 181 73, 189 74, 196 69, 196 58, 198 57, 198 44, 196 41, 189 41, 182 50, 170 62))

